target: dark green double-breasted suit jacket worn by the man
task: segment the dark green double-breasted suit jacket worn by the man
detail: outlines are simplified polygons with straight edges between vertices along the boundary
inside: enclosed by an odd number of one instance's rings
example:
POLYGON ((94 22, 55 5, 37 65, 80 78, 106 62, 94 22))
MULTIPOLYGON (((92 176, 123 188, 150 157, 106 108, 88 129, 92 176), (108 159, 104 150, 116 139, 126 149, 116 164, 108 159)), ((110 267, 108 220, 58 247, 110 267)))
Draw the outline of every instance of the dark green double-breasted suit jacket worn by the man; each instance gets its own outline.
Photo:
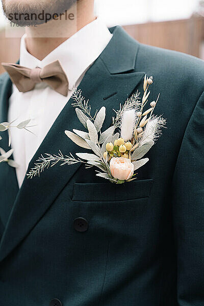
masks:
MULTIPOLYGON (((110 31, 79 86, 83 95, 92 109, 106 106, 108 127, 112 109, 153 75, 149 100, 161 93, 156 113, 168 128, 137 180, 123 185, 75 164, 49 168, 18 190, 15 170, 0 164, 1 306, 204 305, 203 61, 110 31)), ((7 74, 0 91, 2 122, 7 74)), ((79 151, 64 134, 72 129, 83 126, 68 101, 29 167, 45 152, 79 151)))

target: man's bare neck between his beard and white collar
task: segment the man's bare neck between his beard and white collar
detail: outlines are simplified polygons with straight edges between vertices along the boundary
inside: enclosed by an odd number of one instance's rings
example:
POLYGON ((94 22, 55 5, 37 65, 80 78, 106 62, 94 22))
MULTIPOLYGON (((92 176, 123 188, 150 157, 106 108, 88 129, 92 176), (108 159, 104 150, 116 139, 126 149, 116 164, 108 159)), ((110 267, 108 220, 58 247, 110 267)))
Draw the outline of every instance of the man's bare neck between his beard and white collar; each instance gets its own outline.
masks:
POLYGON ((42 60, 70 36, 95 19, 93 2, 77 1, 75 5, 77 7, 72 7, 67 11, 66 16, 63 15, 61 20, 50 20, 37 27, 26 27, 25 43, 30 54, 42 60))

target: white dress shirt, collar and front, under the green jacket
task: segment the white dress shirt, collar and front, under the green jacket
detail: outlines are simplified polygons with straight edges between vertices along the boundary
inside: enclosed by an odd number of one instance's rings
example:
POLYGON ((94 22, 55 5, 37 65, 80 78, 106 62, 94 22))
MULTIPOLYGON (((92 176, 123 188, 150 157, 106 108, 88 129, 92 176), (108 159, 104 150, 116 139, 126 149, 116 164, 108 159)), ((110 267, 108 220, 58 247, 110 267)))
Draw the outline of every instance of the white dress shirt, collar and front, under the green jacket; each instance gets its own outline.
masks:
MULTIPOLYGON (((20 44, 20 65, 43 68, 45 65, 59 60, 69 81, 69 88, 78 86, 90 65, 103 52, 112 38, 106 25, 99 19, 87 24, 80 31, 64 41, 42 61, 28 53, 25 46, 25 35, 20 44)), ((17 119, 12 125, 31 119, 28 127, 32 133, 11 128, 11 147, 14 149, 14 160, 18 185, 21 187, 28 165, 40 146, 50 127, 71 97, 71 91, 65 97, 57 93, 45 83, 39 83, 31 91, 19 92, 15 85, 9 99, 8 121, 17 119)), ((42 152, 43 153, 43 152, 42 152)))

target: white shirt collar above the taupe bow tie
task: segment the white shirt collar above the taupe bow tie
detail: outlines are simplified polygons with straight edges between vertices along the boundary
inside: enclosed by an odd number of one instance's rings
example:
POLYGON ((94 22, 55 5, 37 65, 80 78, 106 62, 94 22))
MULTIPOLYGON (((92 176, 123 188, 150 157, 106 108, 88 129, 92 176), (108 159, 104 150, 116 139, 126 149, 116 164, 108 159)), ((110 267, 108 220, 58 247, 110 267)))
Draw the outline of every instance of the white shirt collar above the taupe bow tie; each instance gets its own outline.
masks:
POLYGON ((45 65, 59 60, 73 87, 87 68, 99 57, 112 38, 105 23, 99 18, 85 25, 80 31, 65 40, 42 61, 32 56, 25 46, 24 34, 20 43, 20 65, 43 68, 45 65))

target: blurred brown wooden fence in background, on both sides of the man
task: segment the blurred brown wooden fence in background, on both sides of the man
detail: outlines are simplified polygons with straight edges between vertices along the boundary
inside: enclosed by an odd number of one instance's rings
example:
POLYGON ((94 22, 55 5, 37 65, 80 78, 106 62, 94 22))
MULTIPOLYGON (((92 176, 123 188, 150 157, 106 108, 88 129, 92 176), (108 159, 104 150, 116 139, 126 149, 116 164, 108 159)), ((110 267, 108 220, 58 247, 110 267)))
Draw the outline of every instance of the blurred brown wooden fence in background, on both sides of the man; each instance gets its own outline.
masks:
MULTIPOLYGON (((201 57, 200 45, 204 40, 203 17, 125 25, 123 28, 139 42, 201 57)), ((19 46, 19 38, 5 38, 4 31, 0 32, 0 62, 16 62, 19 46)), ((3 71, 0 66, 0 73, 3 71)))

